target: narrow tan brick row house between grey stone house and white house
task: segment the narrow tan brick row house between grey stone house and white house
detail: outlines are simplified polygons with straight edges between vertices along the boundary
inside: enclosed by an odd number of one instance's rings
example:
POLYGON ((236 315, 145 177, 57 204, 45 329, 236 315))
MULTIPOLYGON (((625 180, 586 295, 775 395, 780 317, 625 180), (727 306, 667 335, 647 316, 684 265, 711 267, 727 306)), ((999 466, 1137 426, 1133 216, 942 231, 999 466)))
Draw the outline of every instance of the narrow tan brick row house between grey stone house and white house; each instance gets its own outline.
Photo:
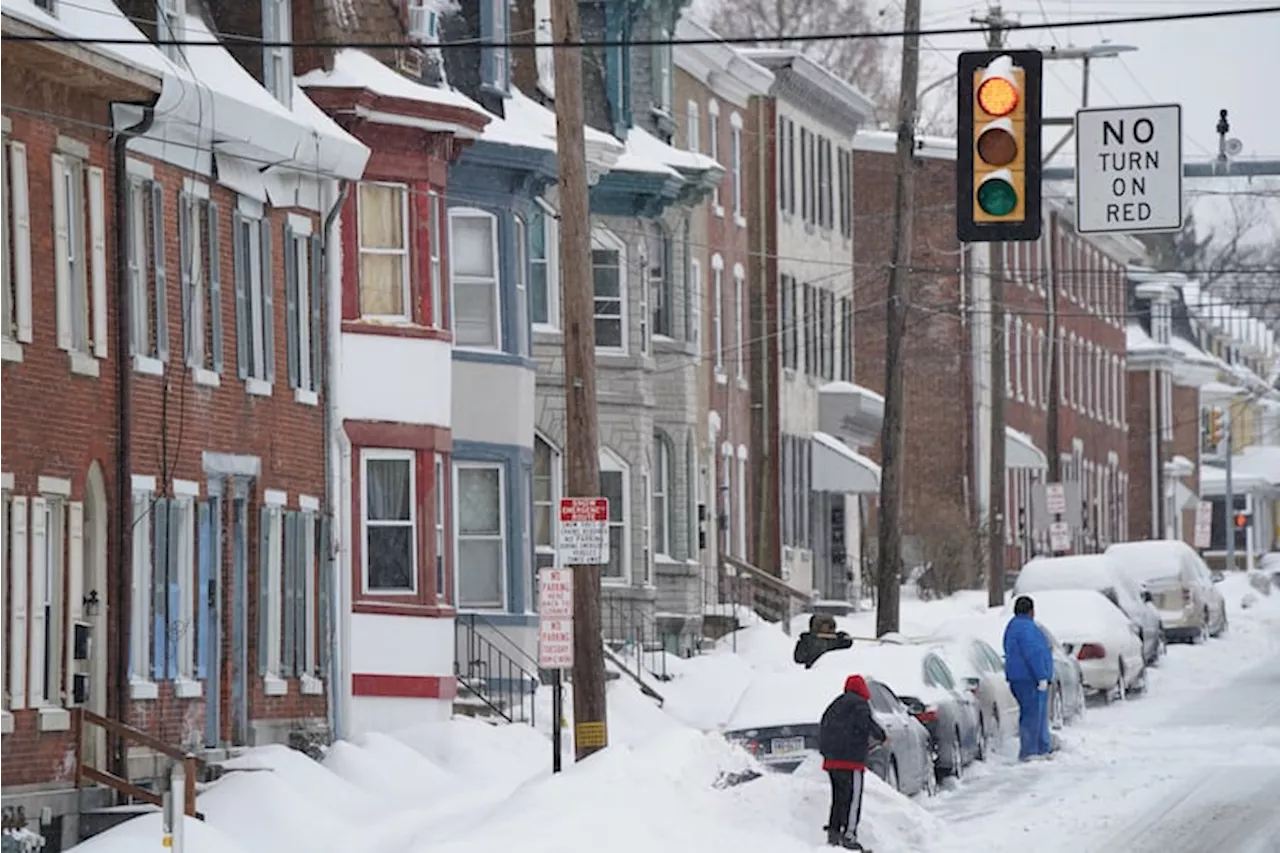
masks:
MULTIPOLYGON (((721 555, 755 565, 751 505, 751 391, 750 370, 763 364, 753 359, 753 339, 769 337, 753 323, 750 295, 762 291, 763 279, 748 280, 751 256, 763 254, 763 234, 748 228, 750 175, 759 174, 767 147, 756 143, 751 99, 764 97, 773 74, 737 50, 709 44, 716 36, 684 17, 677 28, 682 44, 675 50, 675 106, 680 119, 681 147, 707 154, 727 165, 727 174, 690 218, 689 257, 685 265, 690 304, 689 343, 700 355, 698 402, 700 414, 695 441, 689 444, 690 528, 689 560, 701 566, 701 588, 689 588, 686 612, 699 612, 704 603, 718 603, 721 555), (754 332, 753 332, 754 329, 754 332)), ((756 266, 754 275, 764 269, 756 266)))

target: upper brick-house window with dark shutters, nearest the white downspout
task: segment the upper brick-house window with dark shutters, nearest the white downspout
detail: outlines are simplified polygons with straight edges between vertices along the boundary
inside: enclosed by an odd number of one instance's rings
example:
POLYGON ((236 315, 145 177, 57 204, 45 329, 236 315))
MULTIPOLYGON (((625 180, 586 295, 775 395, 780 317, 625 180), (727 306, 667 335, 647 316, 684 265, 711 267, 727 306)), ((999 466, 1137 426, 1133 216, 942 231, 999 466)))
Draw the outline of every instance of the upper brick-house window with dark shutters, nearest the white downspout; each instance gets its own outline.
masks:
POLYGON ((284 327, 289 387, 302 394, 316 393, 324 364, 321 266, 320 238, 311 233, 311 220, 291 214, 284 227, 284 327))

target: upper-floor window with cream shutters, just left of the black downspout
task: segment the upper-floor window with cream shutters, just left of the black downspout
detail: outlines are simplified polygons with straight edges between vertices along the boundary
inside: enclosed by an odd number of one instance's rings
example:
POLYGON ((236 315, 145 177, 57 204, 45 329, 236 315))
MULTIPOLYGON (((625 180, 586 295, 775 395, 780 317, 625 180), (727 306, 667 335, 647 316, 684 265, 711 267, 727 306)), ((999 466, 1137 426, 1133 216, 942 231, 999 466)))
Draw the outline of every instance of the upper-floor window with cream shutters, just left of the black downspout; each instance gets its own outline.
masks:
POLYGON ((69 154, 51 159, 58 347, 72 353, 73 370, 83 364, 86 373, 96 375, 97 365, 78 356, 106 357, 105 177, 100 168, 69 154))

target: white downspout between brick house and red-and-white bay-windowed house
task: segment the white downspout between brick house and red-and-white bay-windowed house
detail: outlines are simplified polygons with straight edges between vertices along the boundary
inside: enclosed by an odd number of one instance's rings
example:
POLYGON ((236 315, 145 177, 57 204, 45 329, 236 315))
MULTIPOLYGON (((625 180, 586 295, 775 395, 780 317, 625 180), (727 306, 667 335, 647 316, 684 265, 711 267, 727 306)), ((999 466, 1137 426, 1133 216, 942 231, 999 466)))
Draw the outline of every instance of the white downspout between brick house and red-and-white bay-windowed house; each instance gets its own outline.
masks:
MULTIPOLYGON (((321 642, 329 644, 329 731, 333 733, 334 739, 346 734, 346 698, 347 698, 347 683, 342 679, 342 661, 338 656, 342 652, 343 643, 339 638, 344 635, 343 630, 343 613, 346 612, 344 598, 343 598, 343 561, 340 543, 344 540, 342 537, 342 530, 339 530, 338 524, 344 517, 343 514, 338 511, 338 503, 342 501, 342 488, 334 482, 335 474, 339 470, 334 464, 334 453, 340 448, 339 432, 339 419, 338 419, 338 400, 334 394, 334 388, 338 383, 333 380, 333 374, 339 365, 339 350, 340 350, 340 321, 342 311, 333 311, 334 304, 334 291, 337 291, 337 300, 340 305, 342 301, 342 265, 334 263, 335 250, 340 247, 340 243, 330 246, 330 234, 334 229, 334 223, 338 222, 338 214, 342 211, 343 205, 347 202, 347 196, 351 192, 349 181, 338 182, 338 197, 334 200, 333 206, 329 207, 329 213, 324 218, 324 228, 320 229, 320 259, 321 259, 321 280, 324 280, 325 298, 321 301, 321 328, 325 330, 325 343, 326 352, 325 360, 328 364, 328 370, 324 370, 323 377, 323 389, 324 389, 324 437, 325 437, 325 455, 324 455, 324 506, 325 512, 329 514, 329 542, 325 547, 329 549, 329 571, 332 573, 332 589, 333 594, 329 596, 329 608, 330 613, 330 630, 329 637, 321 639, 321 642), (333 287, 330 280, 337 275, 338 287, 333 287)), ((339 259, 340 260, 340 259, 339 259)))

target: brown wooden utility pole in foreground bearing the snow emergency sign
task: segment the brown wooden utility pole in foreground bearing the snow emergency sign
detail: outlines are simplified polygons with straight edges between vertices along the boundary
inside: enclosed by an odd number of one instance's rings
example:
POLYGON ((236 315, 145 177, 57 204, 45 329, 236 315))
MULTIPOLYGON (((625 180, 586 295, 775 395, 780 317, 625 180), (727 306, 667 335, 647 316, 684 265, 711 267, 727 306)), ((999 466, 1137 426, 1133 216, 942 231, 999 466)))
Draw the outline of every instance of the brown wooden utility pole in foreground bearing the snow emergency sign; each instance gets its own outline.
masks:
MULTIPOLYGON (((581 44, 577 0, 553 0, 552 37, 581 44)), ((595 291, 586 201, 582 49, 557 47, 556 151, 559 165, 559 261, 564 313, 564 451, 568 497, 600 492, 595 405, 595 291)), ((609 745, 600 640, 600 567, 573 566, 573 753, 582 761, 609 745)), ((554 720, 553 725, 559 725, 554 720)))

